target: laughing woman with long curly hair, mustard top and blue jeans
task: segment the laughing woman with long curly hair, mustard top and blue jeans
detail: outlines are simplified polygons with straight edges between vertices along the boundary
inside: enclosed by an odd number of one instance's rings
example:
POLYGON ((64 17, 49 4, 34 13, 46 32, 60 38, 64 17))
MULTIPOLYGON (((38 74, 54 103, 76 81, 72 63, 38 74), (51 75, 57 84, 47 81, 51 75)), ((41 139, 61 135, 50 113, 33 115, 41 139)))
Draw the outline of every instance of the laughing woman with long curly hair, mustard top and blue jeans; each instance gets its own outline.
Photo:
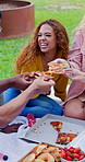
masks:
MULTIPOLYGON (((68 53, 69 38, 64 26, 53 19, 46 20, 36 27, 33 38, 17 56, 15 73, 47 71, 49 61, 56 58, 66 59, 68 53)), ((64 101, 68 78, 62 74, 53 74, 53 80, 56 82, 56 96, 64 101)), ((9 91, 11 91, 9 97, 14 97, 16 91, 14 89, 9 91)), ((16 92, 15 95, 21 92, 16 92)), ((4 97, 5 102, 9 100, 7 96, 4 97)), ((22 115, 26 115, 27 113, 34 113, 36 117, 41 117, 46 114, 62 115, 63 109, 56 101, 47 95, 38 95, 29 100, 22 115)))

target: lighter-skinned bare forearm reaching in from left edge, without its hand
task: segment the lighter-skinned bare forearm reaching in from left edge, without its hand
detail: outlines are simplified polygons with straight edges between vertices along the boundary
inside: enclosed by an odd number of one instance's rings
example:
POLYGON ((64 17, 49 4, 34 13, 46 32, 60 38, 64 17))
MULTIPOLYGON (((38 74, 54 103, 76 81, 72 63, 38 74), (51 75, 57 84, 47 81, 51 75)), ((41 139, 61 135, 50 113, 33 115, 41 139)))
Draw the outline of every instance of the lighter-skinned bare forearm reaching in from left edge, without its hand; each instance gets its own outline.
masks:
POLYGON ((34 86, 29 86, 17 97, 0 106, 0 128, 5 127, 21 114, 28 100, 35 94, 34 86))

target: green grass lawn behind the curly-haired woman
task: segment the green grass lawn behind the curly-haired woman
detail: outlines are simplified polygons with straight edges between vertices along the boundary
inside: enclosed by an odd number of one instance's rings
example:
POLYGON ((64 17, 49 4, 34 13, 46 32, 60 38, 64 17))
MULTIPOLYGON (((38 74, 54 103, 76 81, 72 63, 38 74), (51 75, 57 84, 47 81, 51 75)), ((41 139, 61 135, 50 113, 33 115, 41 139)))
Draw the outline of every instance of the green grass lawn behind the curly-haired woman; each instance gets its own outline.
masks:
MULTIPOLYGON (((85 0, 32 0, 35 3, 35 26, 42 20, 57 19, 66 28, 70 46, 73 31, 85 13, 85 0)), ((15 57, 27 44, 29 36, 0 40, 0 79, 13 76, 15 57)))

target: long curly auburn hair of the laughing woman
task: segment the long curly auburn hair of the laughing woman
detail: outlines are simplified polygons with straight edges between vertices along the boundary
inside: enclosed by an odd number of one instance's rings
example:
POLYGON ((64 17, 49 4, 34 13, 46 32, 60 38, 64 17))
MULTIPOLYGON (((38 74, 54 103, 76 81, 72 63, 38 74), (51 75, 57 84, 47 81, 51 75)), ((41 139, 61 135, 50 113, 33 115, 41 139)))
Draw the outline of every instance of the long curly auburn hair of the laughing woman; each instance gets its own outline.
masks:
POLYGON ((34 56, 40 55, 40 48, 38 46, 38 32, 40 26, 44 24, 49 24, 56 34, 57 44, 57 58, 68 59, 69 54, 69 37, 64 26, 57 20, 49 19, 39 23, 35 28, 31 42, 24 47, 15 60, 15 73, 20 73, 24 63, 28 63, 34 60, 34 56), (62 54, 62 55, 61 55, 62 54))

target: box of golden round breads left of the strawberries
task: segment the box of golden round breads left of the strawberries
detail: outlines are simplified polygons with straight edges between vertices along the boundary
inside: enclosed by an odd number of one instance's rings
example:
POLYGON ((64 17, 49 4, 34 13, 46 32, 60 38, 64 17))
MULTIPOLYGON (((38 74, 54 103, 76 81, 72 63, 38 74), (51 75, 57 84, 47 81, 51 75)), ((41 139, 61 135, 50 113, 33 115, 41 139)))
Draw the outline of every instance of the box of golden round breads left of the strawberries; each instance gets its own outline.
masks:
POLYGON ((60 152, 62 148, 56 147, 49 143, 39 143, 35 148, 32 149, 24 158, 22 158, 19 162, 60 162, 60 152), (46 155, 45 155, 46 154, 46 155), (49 154, 49 158, 47 158, 49 154), (41 155, 41 157, 40 157, 41 155), (44 157, 44 158, 42 158, 44 157), (38 159, 40 158, 40 159, 38 159), (50 159, 52 158, 52 159, 50 159), (44 159, 44 160, 41 160, 44 159), (50 160, 49 160, 50 159, 50 160))

